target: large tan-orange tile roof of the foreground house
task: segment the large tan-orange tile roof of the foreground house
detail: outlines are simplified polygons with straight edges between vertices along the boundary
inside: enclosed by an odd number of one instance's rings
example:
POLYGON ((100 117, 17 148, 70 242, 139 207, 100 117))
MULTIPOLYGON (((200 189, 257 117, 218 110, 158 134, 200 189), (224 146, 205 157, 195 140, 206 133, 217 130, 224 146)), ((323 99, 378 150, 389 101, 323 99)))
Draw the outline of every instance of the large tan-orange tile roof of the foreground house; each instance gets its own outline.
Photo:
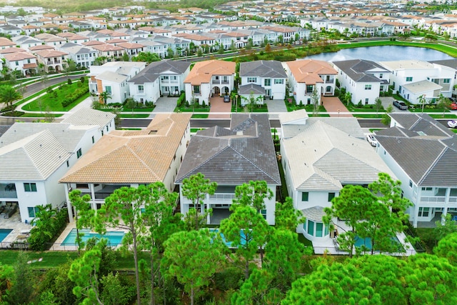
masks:
POLYGON ((141 131, 111 131, 64 175, 63 183, 149 184, 163 181, 191 114, 157 114, 141 131))

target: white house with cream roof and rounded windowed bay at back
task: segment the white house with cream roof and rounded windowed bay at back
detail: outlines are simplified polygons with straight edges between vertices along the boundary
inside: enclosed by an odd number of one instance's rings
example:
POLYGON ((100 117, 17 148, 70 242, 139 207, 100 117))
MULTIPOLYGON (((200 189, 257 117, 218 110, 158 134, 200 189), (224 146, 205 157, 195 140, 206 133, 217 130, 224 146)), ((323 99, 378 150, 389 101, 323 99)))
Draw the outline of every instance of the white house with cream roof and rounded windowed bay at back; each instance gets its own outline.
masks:
MULTIPOLYGON (((280 114, 279 119, 288 195, 305 217, 297 231, 322 252, 319 247, 337 234, 322 221, 323 209, 331 206, 343 186, 367 186, 380 172, 395 176, 364 139, 355 118, 308 118, 302 109, 280 114)), ((343 221, 334 221, 341 228, 343 221)))

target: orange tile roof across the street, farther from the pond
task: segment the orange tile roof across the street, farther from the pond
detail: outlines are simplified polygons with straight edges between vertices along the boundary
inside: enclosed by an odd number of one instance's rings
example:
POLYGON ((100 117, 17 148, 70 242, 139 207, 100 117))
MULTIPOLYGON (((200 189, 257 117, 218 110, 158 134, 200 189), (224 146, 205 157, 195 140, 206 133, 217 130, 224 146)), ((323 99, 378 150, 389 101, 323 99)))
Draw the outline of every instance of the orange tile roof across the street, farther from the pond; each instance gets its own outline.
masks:
POLYGON ((195 64, 189 75, 184 80, 186 84, 199 85, 209 83, 213 75, 235 74, 236 63, 232 61, 199 61, 195 64))

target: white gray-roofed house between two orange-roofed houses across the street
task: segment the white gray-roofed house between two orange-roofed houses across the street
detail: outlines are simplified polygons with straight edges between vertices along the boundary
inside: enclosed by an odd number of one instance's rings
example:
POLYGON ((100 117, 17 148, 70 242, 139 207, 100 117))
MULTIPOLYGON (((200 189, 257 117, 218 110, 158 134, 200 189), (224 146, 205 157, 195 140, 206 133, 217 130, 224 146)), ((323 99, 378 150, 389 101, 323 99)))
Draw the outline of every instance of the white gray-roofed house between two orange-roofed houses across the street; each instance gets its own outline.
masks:
POLYGON ((241 86, 238 94, 241 104, 247 104, 251 95, 261 96, 256 104, 263 104, 263 97, 283 100, 286 96, 287 74, 281 61, 247 61, 240 64, 241 86))

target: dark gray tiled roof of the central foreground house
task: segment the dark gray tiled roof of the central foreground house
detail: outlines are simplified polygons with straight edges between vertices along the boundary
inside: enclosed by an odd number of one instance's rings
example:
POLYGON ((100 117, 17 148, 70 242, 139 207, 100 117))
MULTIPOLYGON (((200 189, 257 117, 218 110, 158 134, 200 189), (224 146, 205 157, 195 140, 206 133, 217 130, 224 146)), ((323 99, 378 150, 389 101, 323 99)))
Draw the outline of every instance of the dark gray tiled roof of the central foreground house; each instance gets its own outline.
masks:
POLYGON ((176 184, 202 173, 220 185, 251 180, 281 184, 266 114, 233 114, 231 129, 215 126, 192 136, 176 184))

